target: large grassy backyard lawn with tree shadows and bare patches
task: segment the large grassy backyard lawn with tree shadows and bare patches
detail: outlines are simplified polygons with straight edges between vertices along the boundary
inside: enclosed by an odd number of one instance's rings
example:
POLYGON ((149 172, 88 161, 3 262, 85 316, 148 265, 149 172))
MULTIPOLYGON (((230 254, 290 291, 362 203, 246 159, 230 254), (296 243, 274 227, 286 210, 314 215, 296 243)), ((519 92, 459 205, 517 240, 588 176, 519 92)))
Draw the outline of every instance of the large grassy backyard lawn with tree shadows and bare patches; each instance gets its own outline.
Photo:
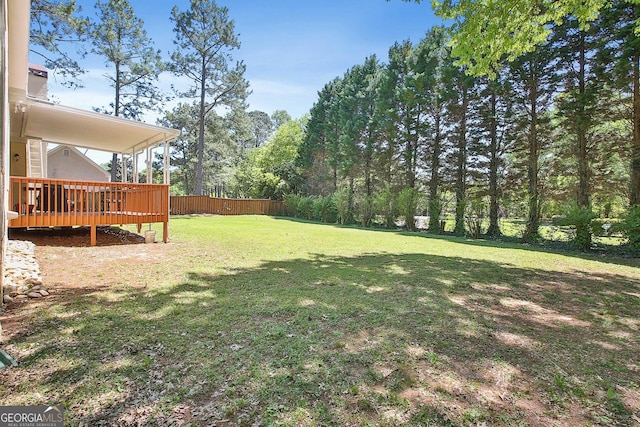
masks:
POLYGON ((270 217, 38 247, 0 404, 70 425, 640 424, 638 260, 270 217))

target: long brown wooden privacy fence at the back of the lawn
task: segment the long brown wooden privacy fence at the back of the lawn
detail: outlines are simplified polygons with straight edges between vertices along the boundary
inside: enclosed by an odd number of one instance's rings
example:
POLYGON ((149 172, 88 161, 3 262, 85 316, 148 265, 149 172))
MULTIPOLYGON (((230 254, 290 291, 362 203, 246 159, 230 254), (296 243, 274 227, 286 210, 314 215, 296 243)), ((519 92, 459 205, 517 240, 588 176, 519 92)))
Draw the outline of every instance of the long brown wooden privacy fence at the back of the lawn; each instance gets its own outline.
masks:
POLYGON ((284 203, 275 200, 220 199, 209 196, 171 196, 173 215, 283 215, 284 203))

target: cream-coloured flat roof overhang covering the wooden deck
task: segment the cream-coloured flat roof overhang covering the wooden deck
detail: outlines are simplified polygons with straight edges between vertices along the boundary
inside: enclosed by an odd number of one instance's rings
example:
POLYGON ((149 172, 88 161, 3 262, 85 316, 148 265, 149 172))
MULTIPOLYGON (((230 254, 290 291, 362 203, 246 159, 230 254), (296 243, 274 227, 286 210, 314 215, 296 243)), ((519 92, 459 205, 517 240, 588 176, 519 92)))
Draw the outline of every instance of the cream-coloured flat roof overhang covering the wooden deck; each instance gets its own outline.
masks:
POLYGON ((13 138, 133 154, 168 143, 180 134, 176 129, 34 98, 11 104, 11 130, 13 138))

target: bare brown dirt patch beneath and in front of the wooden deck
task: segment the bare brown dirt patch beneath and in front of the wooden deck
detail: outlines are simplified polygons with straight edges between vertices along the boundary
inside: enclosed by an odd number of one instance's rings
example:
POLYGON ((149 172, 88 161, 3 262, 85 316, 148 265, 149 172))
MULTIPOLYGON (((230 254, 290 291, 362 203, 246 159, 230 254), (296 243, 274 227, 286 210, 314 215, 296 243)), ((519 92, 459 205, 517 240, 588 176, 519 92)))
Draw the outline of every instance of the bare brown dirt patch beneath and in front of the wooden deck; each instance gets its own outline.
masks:
POLYGON ((43 306, 127 281, 144 285, 150 280, 139 274, 142 267, 165 262, 166 251, 172 246, 145 244, 143 236, 116 227, 98 227, 96 246, 90 246, 88 227, 10 229, 9 238, 36 245, 36 259, 50 295, 0 308, 3 341, 24 334, 34 312, 43 306))

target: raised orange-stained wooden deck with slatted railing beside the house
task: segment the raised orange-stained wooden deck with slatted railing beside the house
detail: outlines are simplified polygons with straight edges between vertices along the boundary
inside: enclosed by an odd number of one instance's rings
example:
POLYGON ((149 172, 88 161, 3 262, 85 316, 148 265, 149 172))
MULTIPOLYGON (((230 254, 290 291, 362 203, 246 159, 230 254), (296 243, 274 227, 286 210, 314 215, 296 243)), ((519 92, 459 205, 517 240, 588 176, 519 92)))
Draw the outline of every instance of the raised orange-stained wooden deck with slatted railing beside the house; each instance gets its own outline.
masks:
POLYGON ((18 217, 10 228, 96 227, 163 223, 163 241, 168 239, 169 186, 44 178, 11 177, 10 208, 18 217))

